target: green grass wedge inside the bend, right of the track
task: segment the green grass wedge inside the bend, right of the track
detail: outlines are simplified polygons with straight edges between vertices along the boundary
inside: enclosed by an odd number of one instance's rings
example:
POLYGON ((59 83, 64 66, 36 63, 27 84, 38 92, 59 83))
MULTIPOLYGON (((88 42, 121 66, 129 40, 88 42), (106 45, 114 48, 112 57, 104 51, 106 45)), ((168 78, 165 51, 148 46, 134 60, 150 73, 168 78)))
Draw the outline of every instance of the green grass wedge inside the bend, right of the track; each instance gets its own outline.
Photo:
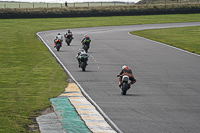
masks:
POLYGON ((200 26, 133 31, 131 34, 200 54, 200 26))

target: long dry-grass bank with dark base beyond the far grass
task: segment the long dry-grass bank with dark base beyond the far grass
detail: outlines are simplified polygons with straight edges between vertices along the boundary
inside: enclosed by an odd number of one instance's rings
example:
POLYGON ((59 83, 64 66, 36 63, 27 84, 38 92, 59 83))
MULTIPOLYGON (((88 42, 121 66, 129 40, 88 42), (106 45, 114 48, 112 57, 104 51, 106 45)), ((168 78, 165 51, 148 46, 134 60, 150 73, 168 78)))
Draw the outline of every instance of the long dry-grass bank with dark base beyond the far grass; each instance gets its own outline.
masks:
POLYGON ((200 4, 0 9, 0 18, 56 18, 200 13, 200 4))

